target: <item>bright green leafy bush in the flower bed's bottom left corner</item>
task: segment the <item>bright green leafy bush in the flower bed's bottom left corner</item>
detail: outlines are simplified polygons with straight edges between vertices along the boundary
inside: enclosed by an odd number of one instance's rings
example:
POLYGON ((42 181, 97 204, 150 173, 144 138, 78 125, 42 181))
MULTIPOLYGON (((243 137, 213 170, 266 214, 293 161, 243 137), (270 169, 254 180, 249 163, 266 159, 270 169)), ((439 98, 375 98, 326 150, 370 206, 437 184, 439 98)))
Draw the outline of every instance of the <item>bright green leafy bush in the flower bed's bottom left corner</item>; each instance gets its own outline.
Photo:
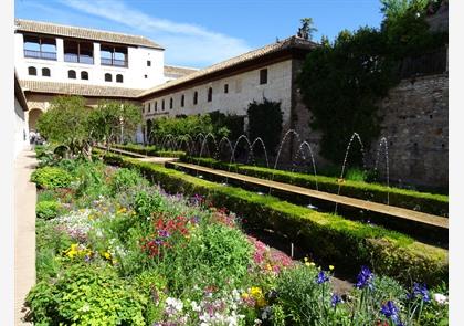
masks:
POLYGON ((27 304, 36 325, 146 325, 147 298, 110 267, 72 265, 55 283, 36 284, 27 304))

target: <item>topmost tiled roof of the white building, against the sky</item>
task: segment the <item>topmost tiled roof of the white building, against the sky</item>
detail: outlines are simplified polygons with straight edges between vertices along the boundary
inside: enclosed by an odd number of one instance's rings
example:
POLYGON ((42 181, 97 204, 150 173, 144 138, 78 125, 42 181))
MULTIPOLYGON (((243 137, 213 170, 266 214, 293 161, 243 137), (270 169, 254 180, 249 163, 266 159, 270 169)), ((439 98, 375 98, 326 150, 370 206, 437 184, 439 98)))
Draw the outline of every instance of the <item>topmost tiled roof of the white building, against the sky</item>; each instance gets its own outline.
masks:
POLYGON ((23 19, 15 19, 14 24, 18 31, 22 32, 34 32, 41 34, 51 34, 51 35, 59 35, 59 36, 68 36, 68 38, 77 38, 77 39, 86 39, 86 40, 95 40, 95 41, 104 41, 104 42, 112 42, 112 43, 120 43, 126 45, 140 45, 146 48, 152 49, 160 49, 164 48, 154 41, 139 36, 139 35, 129 35, 123 33, 114 33, 108 31, 101 31, 101 30, 93 30, 93 29, 85 29, 85 28, 77 28, 77 27, 70 27, 70 25, 61 25, 50 22, 41 22, 41 21, 33 21, 33 20, 23 20, 23 19))

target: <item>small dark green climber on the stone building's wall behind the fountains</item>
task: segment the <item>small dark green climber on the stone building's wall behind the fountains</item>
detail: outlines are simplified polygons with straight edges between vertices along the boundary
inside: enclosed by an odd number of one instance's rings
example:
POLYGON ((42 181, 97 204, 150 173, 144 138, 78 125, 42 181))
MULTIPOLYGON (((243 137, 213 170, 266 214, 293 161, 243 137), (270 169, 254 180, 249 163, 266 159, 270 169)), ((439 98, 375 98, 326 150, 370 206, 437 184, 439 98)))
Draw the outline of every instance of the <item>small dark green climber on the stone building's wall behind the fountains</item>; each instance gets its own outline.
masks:
MULTIPOLYGON (((266 144, 267 153, 273 155, 282 134, 282 111, 280 102, 264 98, 262 103, 253 101, 249 104, 249 137, 261 137, 266 144)), ((260 149, 257 149, 260 150, 260 149)))

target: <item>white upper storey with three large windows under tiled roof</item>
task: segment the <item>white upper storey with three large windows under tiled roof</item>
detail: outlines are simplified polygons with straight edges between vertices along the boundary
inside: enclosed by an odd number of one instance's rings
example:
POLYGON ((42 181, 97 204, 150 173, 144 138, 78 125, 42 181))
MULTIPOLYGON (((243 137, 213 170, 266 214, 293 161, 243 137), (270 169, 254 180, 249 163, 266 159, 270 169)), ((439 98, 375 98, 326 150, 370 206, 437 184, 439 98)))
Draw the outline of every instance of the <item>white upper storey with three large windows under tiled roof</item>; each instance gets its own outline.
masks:
POLYGON ((165 49, 144 36, 15 20, 19 78, 145 90, 165 82, 165 49))

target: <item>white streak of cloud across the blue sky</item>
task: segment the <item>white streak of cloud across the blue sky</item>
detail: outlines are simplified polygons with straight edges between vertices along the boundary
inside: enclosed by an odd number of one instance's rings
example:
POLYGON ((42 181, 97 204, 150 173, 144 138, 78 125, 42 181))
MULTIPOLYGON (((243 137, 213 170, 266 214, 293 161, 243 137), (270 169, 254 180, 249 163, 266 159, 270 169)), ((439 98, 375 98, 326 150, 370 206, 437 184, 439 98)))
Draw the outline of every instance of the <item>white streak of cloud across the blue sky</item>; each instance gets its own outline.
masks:
POLYGON ((166 49, 166 61, 170 64, 205 66, 251 50, 242 39, 151 17, 119 0, 60 0, 60 3, 124 24, 131 28, 131 33, 152 39, 166 49))

